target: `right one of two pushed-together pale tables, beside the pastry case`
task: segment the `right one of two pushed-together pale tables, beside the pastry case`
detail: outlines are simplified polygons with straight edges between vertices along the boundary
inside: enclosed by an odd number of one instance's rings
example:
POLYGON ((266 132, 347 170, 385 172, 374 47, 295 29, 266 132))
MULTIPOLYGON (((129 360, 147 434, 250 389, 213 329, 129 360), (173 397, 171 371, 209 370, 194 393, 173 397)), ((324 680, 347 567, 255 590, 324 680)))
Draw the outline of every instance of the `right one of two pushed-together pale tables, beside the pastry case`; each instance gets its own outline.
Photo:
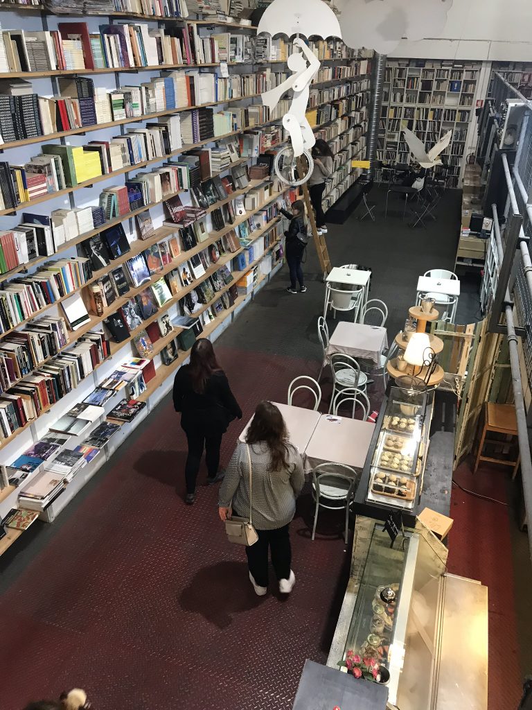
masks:
POLYGON ((362 470, 375 431, 372 422, 323 414, 306 447, 307 465, 331 462, 362 470))

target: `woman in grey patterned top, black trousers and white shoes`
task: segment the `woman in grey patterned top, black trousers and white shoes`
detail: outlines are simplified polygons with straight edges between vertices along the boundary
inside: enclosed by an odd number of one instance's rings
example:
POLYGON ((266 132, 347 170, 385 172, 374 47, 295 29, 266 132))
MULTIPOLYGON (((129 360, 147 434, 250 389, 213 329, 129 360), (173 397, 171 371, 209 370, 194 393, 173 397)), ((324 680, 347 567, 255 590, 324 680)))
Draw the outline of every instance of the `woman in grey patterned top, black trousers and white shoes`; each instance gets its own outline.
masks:
POLYGON ((287 427, 279 408, 260 402, 255 410, 245 442, 238 442, 220 488, 218 513, 221 520, 251 511, 258 540, 245 548, 250 581, 258 596, 268 586, 268 548, 272 555, 279 591, 289 594, 296 577, 292 572, 289 525, 296 512, 296 498, 304 484, 303 462, 296 447, 289 443, 287 427))

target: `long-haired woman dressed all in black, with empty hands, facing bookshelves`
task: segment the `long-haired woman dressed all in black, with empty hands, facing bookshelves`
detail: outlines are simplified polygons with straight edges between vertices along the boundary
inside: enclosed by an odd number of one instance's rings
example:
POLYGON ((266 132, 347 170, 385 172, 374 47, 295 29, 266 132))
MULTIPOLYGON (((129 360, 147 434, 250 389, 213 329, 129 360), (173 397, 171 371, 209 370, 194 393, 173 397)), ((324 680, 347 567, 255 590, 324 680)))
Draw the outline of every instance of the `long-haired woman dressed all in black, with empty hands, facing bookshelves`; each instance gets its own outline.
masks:
POLYGON ((181 427, 187 435, 188 455, 185 465, 187 495, 185 503, 196 500, 196 479, 205 448, 208 484, 221 481, 225 471, 218 471, 220 446, 229 422, 242 418, 242 410, 222 368, 216 361, 210 340, 199 338, 190 351, 190 362, 174 378, 174 409, 181 413, 181 427))

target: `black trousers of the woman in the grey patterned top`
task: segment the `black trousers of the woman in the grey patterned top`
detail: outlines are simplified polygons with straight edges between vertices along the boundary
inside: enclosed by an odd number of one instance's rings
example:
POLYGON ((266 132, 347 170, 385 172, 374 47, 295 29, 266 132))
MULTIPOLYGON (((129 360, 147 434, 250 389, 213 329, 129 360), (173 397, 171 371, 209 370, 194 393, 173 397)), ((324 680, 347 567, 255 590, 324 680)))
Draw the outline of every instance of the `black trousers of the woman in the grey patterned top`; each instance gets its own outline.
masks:
POLYGON ((277 530, 257 530, 259 539, 255 545, 245 548, 248 567, 258 586, 268 586, 268 547, 270 547, 277 579, 289 578, 292 564, 289 525, 283 525, 277 530))

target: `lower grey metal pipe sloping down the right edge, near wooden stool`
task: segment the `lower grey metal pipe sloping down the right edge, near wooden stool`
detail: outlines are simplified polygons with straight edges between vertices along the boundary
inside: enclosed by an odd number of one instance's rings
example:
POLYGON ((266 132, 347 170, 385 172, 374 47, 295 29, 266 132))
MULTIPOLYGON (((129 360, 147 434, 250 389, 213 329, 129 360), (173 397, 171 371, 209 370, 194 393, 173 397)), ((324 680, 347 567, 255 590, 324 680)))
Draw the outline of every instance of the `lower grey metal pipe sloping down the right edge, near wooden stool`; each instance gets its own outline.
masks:
POLYGON ((521 369, 519 368, 519 351, 514 327, 514 312, 511 305, 506 305, 506 329, 508 330, 508 346, 510 351, 511 381, 514 387, 514 403, 517 417, 517 437, 519 453, 521 454, 521 479, 523 480, 523 495, 525 498, 526 518, 528 520, 528 550, 532 559, 532 459, 530 442, 528 442, 528 427, 526 426, 526 410, 521 386, 521 369))

